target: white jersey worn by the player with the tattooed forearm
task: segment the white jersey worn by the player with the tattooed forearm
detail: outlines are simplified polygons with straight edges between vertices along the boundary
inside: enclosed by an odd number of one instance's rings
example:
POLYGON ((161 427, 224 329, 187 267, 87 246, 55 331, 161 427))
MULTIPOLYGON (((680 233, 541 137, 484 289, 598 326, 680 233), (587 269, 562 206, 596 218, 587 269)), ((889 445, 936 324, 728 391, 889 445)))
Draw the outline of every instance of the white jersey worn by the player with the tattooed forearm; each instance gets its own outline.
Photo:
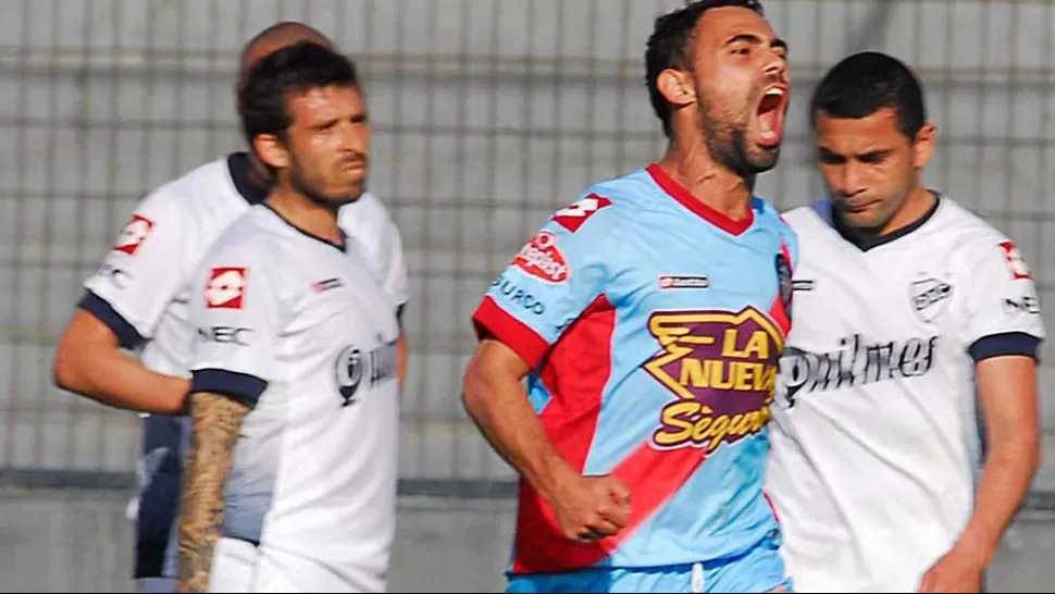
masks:
MULTIPOLYGON (((395 528, 399 429, 389 299, 355 249, 253 207, 195 274, 191 392, 252 406, 235 445, 222 536, 256 545, 272 583, 381 591, 395 528)), ((251 565, 256 565, 256 560, 251 565)), ((219 555, 212 587, 259 583, 219 555), (234 567, 232 567, 234 566, 234 567), (219 585, 218 585, 219 584, 219 585)))

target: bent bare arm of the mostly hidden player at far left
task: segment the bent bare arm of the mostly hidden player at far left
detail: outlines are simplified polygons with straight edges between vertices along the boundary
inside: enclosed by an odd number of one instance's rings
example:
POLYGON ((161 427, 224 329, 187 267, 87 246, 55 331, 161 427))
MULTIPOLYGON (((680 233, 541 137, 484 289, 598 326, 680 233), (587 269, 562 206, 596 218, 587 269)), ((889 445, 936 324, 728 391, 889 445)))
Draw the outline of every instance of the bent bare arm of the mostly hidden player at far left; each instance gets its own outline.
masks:
POLYGON ((110 327, 78 309, 59 339, 55 384, 98 403, 161 414, 183 409, 189 381, 154 373, 121 351, 110 327))

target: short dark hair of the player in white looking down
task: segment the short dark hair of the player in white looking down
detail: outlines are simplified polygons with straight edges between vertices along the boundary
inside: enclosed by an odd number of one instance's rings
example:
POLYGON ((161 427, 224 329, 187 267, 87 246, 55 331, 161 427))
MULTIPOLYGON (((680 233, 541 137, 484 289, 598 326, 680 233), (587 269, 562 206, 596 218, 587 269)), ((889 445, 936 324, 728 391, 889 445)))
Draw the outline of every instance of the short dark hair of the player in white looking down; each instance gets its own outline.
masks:
POLYGON ((859 120, 881 109, 892 109, 897 129, 916 139, 927 122, 923 89, 904 62, 878 51, 862 51, 832 66, 814 89, 809 101, 809 123, 817 127, 817 115, 859 120))

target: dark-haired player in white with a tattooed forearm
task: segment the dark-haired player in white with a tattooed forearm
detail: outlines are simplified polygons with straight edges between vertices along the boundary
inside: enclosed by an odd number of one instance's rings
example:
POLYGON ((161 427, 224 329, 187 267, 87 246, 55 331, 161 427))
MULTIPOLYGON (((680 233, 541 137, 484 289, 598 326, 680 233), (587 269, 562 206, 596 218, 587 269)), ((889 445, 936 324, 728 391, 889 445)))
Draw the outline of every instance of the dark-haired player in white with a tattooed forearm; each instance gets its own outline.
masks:
POLYGON ((297 44, 240 90, 276 184, 194 275, 181 591, 378 592, 395 529, 395 312, 337 223, 365 184, 352 63, 297 44))

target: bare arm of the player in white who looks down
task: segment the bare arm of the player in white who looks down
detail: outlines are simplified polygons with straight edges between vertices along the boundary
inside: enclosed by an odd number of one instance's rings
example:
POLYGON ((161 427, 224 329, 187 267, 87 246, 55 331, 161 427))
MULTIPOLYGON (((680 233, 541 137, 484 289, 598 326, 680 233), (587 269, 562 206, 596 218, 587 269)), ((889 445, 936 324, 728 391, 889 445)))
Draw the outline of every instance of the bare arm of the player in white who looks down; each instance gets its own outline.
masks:
POLYGON ((977 367, 989 451, 975 512, 956 543, 989 565, 1040 466, 1037 363, 1030 357, 984 359, 977 367))

